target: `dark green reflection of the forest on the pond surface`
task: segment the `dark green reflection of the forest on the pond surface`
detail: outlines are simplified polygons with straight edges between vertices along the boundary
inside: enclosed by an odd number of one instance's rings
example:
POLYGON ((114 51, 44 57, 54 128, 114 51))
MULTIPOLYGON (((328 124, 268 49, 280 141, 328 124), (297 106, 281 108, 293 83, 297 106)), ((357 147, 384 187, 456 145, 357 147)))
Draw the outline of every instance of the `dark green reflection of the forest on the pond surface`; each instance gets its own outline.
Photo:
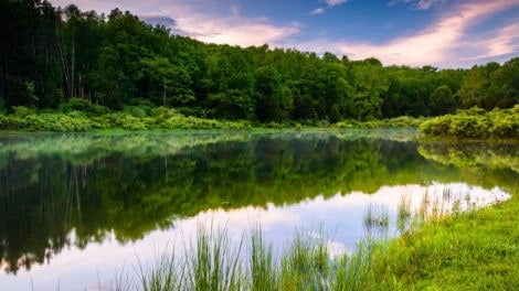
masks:
POLYGON ((190 144, 161 153, 131 147, 103 154, 7 155, 0 170, 0 256, 7 271, 43 263, 66 246, 103 241, 112 231, 120 241, 137 239, 209 208, 283 205, 459 176, 421 158, 413 142, 308 134, 190 144))

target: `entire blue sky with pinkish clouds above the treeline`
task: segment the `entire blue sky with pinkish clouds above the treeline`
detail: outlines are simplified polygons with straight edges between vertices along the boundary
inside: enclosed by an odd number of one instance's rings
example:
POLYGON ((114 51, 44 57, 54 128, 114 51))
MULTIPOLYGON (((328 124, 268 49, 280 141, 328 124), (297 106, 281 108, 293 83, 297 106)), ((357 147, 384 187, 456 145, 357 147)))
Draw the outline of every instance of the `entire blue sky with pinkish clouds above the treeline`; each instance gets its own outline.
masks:
POLYGON ((206 43, 268 44, 384 65, 470 67, 519 56, 519 0, 51 0, 130 11, 206 43))

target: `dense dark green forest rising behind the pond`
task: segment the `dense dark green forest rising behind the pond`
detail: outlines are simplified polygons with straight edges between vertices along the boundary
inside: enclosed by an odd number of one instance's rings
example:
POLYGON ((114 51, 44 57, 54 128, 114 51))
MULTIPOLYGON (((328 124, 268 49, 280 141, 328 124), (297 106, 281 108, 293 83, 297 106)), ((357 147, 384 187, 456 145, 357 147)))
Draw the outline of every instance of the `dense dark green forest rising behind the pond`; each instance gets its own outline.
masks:
POLYGON ((519 103, 517 57, 470 69, 384 67, 377 58, 204 44, 118 9, 0 6, 0 112, 81 98, 110 110, 165 106, 202 118, 311 123, 519 103))

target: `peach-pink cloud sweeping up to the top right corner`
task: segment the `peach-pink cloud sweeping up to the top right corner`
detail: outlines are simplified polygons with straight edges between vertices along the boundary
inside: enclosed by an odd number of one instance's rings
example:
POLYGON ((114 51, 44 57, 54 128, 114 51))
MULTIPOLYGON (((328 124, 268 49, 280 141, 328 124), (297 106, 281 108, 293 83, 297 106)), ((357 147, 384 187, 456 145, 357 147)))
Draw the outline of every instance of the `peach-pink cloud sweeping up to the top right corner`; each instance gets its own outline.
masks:
MULTIPOLYGON (((384 44, 348 40, 310 40, 294 44, 318 53, 346 54, 353 60, 377 57, 384 64, 472 66, 474 60, 510 54, 519 50, 519 24, 470 34, 475 25, 499 12, 519 7, 516 0, 472 1, 453 7, 426 29, 384 44)), ((286 45, 286 44, 285 44, 286 45)))

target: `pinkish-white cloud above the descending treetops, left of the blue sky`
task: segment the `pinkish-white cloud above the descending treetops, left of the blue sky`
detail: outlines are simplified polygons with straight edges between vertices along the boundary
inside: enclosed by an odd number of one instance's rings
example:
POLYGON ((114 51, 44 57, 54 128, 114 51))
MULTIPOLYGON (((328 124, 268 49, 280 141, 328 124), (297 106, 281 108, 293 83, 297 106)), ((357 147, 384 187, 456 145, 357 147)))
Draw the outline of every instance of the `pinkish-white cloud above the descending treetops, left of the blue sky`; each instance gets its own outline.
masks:
MULTIPOLYGON (((55 6, 66 6, 71 0, 51 0, 55 6)), ((241 15, 240 7, 230 6, 227 14, 220 11, 221 1, 212 0, 75 0, 82 10, 96 10, 109 12, 113 8, 129 10, 135 14, 144 15, 141 19, 151 24, 168 25, 174 33, 188 35, 208 43, 231 44, 241 46, 276 43, 300 31, 300 24, 289 22, 274 24, 268 18, 251 18, 241 15)), ((332 2, 345 2, 335 0, 332 2)))

